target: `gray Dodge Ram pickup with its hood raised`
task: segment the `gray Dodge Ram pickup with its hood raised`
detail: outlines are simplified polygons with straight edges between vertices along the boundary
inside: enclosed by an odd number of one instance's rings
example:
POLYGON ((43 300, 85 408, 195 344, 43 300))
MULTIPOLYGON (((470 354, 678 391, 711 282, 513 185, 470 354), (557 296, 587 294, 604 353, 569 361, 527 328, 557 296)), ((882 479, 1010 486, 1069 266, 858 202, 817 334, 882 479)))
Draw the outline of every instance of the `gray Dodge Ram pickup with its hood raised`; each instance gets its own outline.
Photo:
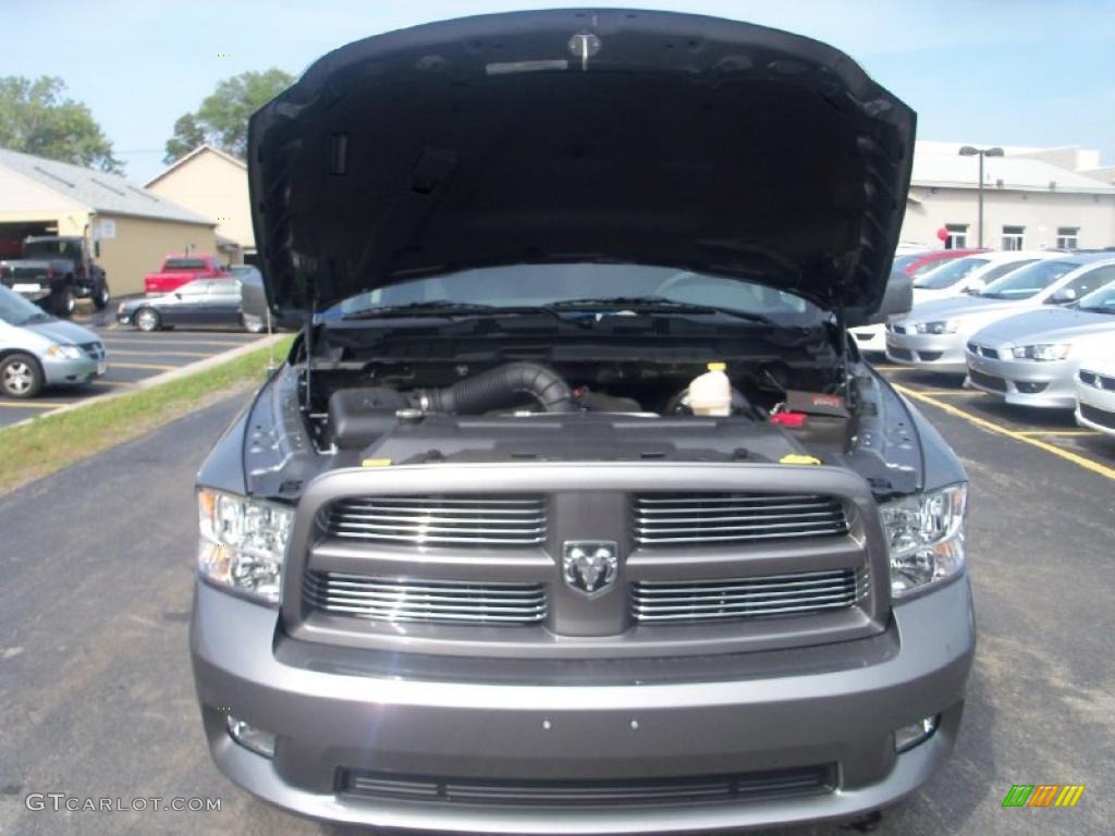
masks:
POLYGON ((873 815, 946 761, 968 483, 864 363, 914 114, 813 40, 564 10, 358 41, 250 125, 287 359, 203 464, 217 767, 415 832, 873 815))

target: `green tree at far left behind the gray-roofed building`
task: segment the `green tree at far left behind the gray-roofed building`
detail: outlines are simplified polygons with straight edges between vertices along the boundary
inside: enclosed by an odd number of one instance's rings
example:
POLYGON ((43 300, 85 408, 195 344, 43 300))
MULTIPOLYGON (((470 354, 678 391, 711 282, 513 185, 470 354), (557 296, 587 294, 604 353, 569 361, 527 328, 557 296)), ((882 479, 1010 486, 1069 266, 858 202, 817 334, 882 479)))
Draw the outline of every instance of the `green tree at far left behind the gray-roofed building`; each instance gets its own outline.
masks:
POLYGON ((55 76, 0 77, 0 147, 120 173, 113 144, 89 108, 55 76))

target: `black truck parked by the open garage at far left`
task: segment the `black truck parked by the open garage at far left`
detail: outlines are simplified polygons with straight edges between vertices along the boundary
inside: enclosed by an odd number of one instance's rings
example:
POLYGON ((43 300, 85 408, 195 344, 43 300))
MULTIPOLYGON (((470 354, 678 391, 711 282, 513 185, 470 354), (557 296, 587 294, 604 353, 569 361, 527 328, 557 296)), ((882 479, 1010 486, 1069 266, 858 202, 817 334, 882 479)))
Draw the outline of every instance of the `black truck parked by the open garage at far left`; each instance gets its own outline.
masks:
POLYGON ((23 240, 19 259, 0 260, 0 283, 38 302, 56 317, 69 317, 78 299, 100 311, 112 293, 108 276, 95 263, 98 244, 80 236, 36 235, 23 240))

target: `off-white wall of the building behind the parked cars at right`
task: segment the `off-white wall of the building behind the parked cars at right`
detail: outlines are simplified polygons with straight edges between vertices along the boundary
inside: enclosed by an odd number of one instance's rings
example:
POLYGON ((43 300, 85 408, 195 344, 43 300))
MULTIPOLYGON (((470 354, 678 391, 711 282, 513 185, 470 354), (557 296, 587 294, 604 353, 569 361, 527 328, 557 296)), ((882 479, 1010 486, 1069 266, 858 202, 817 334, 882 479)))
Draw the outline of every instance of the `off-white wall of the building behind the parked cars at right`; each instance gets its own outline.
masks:
MULTIPOLYGON (((937 231, 947 224, 968 225, 968 245, 977 245, 978 200, 975 188, 914 186, 906 202, 902 240, 940 245, 937 231)), ((1022 226, 1027 250, 1057 245, 1057 229, 1076 227, 1077 246, 1115 246, 1115 195, 985 189, 983 246, 1002 247, 1002 227, 1022 226)))

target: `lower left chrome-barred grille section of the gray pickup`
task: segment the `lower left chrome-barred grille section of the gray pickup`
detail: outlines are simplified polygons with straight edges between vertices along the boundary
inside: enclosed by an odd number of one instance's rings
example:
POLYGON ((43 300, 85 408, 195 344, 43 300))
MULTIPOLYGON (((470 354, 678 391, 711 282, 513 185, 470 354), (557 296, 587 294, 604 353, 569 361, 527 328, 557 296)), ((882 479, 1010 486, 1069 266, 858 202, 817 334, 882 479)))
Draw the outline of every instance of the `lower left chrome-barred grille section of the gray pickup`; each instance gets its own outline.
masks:
POLYGON ((398 580, 309 572, 306 603, 322 612, 386 622, 535 624, 546 616, 540 583, 398 580))

